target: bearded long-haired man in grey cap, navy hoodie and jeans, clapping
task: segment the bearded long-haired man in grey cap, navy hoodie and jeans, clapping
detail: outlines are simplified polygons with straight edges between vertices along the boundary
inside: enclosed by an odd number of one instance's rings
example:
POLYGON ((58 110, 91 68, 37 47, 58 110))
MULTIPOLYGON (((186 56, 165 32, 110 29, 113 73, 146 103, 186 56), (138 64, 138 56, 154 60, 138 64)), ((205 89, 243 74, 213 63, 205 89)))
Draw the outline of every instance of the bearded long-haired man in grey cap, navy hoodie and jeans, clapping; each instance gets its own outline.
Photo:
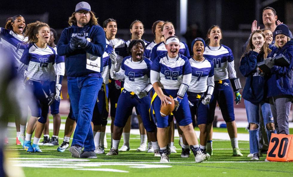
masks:
POLYGON ((68 24, 70 27, 65 28, 60 36, 57 52, 59 55, 66 55, 68 94, 77 122, 69 151, 76 158, 97 158, 94 153, 91 119, 103 82, 101 72, 102 56, 106 48, 105 32, 97 25, 97 18, 87 2, 76 5, 68 24), (87 69, 87 53, 101 57, 100 72, 87 69))

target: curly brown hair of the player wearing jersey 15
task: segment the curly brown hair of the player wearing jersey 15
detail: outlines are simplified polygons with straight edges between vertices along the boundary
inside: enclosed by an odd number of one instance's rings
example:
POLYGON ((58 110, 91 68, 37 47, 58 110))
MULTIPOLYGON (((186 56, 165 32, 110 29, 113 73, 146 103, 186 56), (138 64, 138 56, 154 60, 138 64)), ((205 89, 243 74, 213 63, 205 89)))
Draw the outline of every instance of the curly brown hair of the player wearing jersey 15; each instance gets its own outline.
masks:
POLYGON ((38 42, 38 38, 36 34, 39 33, 39 29, 47 26, 50 29, 50 26, 44 22, 36 21, 34 23, 30 23, 27 25, 27 29, 25 31, 24 37, 28 37, 28 43, 36 43, 38 42))

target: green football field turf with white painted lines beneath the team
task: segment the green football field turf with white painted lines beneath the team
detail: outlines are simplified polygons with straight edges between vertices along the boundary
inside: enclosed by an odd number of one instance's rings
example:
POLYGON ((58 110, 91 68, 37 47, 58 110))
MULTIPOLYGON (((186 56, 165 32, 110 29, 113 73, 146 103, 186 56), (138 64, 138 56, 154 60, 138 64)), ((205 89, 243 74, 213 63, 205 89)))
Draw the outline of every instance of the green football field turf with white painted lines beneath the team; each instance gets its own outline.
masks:
MULTIPOLYGON (((15 128, 8 130, 15 134, 15 128)), ((59 144, 63 136, 64 130, 60 130, 59 144)), ((247 157, 248 141, 239 141, 243 157, 233 157, 230 141, 213 140, 210 160, 195 163, 193 154, 189 158, 180 157, 179 138, 175 137, 177 153, 170 155, 170 163, 159 163, 160 157, 154 157, 153 153, 136 152, 140 144, 139 135, 131 134, 130 137, 130 151, 119 152, 118 156, 101 154, 97 159, 72 158, 68 149, 63 153, 57 152, 57 146, 40 146, 43 153, 27 153, 20 145, 14 145, 15 138, 11 136, 5 152, 10 154, 12 169, 22 167, 25 176, 293 176, 293 162, 264 162, 266 155, 258 162, 250 161, 247 157)), ((109 152, 110 140, 110 134, 107 134, 106 153, 109 152)), ((119 148, 122 144, 123 138, 119 148)))

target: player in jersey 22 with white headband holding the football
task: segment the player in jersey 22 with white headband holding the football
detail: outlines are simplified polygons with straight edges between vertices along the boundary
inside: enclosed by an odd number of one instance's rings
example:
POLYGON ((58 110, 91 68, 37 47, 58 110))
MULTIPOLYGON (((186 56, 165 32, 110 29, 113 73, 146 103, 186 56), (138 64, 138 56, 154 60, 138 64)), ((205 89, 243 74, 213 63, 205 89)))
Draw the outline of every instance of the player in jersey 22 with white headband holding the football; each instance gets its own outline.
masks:
POLYGON ((191 80, 192 69, 187 57, 179 54, 180 41, 176 36, 166 39, 168 53, 159 55, 155 58, 151 68, 151 83, 155 94, 152 98, 152 106, 157 118, 158 144, 160 147, 161 161, 169 162, 169 128, 168 116, 161 116, 160 107, 169 104, 171 99, 176 102, 173 114, 186 135, 187 143, 195 156, 196 162, 202 162, 209 158, 208 154, 203 154, 199 148, 196 134, 193 130, 190 115, 189 102, 187 99, 187 89, 191 80))

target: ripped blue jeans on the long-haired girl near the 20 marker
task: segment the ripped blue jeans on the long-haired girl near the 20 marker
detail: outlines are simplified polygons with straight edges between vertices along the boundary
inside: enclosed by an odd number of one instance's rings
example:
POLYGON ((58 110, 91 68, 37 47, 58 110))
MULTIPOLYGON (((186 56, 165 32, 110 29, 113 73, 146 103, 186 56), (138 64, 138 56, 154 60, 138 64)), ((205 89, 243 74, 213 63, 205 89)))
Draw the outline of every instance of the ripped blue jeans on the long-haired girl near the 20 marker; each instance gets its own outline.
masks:
POLYGON ((259 123, 260 123, 260 114, 259 109, 261 106, 263 113, 263 123, 265 125, 265 131, 268 137, 268 140, 271 139, 271 134, 276 133, 275 130, 268 130, 266 127, 267 123, 273 123, 274 119, 271 113, 270 104, 265 102, 260 102, 259 104, 251 103, 250 101, 244 100, 246 115, 248 120, 248 129, 249 129, 249 148, 250 153, 258 153, 259 145, 258 145, 258 133, 259 133, 259 123), (257 129, 250 130, 249 123, 255 123, 258 125, 257 129))

